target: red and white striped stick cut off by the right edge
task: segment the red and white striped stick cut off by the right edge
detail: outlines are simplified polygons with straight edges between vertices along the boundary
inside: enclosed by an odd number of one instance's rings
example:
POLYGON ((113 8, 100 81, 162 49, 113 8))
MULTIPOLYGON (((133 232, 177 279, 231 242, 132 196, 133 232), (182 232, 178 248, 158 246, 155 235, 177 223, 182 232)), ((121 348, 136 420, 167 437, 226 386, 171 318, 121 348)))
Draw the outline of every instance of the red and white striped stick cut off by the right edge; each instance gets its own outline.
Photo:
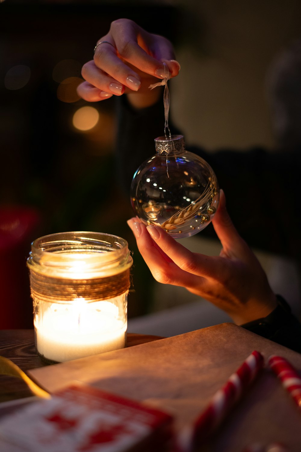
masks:
POLYGON ((270 356, 269 367, 281 380, 284 388, 290 393, 299 408, 301 408, 301 377, 287 359, 281 356, 270 356))

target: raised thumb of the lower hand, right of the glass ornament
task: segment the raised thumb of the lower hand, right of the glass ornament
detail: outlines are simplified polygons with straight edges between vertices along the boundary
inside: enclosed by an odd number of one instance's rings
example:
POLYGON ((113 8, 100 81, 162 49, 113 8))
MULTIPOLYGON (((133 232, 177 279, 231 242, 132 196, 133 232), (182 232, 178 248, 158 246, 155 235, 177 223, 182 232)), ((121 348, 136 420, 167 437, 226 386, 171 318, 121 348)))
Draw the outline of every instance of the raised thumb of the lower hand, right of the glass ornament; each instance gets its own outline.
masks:
POLYGON ((214 215, 212 224, 214 231, 219 237, 219 240, 223 245, 223 249, 226 252, 228 250, 235 250, 238 245, 242 245, 244 243, 241 236, 235 229, 231 218, 229 217, 226 209, 226 198, 222 189, 219 191, 219 207, 214 215))

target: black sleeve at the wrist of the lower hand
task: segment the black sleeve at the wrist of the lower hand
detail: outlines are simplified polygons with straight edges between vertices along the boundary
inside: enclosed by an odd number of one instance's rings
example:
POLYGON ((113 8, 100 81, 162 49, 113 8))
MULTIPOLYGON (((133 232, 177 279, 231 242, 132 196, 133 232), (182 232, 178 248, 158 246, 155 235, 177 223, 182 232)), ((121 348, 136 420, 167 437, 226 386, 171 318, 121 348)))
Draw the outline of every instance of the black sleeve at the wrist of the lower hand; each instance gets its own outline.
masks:
POLYGON ((301 324, 287 302, 277 295, 278 306, 269 315, 241 325, 259 336, 301 353, 301 324))

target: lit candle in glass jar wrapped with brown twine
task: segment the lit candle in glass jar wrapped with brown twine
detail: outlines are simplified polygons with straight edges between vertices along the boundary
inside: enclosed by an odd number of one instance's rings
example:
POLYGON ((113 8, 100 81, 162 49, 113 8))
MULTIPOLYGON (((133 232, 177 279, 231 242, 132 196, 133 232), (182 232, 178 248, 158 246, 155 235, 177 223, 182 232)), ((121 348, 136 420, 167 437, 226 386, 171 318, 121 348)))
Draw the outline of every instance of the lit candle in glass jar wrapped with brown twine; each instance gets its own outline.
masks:
POLYGON ((115 235, 34 240, 27 266, 37 353, 58 363, 123 348, 131 265, 127 241, 115 235))

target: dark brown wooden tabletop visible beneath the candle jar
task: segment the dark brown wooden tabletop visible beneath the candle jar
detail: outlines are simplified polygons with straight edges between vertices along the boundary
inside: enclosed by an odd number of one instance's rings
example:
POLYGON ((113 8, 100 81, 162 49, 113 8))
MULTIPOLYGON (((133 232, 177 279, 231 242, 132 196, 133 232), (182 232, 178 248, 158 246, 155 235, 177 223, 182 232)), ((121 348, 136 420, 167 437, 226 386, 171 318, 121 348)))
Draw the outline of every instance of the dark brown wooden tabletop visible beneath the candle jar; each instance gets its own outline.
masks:
MULTIPOLYGON (((144 344, 159 336, 128 333, 127 347, 144 344)), ((34 330, 0 330, 0 356, 9 358, 23 372, 29 369, 48 366, 36 353, 34 330)), ((16 377, 0 375, 0 402, 32 396, 23 380, 16 377)), ((1 410, 1 407, 0 407, 1 410)))

